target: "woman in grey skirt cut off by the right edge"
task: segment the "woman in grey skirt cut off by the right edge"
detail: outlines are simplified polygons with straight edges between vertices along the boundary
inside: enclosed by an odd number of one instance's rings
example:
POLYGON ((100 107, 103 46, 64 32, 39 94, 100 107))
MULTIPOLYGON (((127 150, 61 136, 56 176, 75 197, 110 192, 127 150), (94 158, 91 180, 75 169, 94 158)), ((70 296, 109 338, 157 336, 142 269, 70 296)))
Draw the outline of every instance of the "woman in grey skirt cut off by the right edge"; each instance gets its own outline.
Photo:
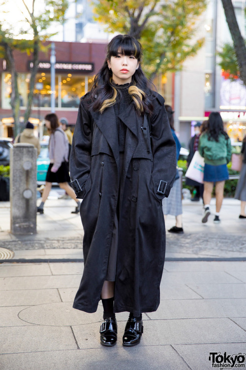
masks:
POLYGON ((240 219, 246 219, 246 136, 243 140, 242 150, 243 164, 240 171, 240 178, 235 192, 235 199, 241 200, 240 219))

